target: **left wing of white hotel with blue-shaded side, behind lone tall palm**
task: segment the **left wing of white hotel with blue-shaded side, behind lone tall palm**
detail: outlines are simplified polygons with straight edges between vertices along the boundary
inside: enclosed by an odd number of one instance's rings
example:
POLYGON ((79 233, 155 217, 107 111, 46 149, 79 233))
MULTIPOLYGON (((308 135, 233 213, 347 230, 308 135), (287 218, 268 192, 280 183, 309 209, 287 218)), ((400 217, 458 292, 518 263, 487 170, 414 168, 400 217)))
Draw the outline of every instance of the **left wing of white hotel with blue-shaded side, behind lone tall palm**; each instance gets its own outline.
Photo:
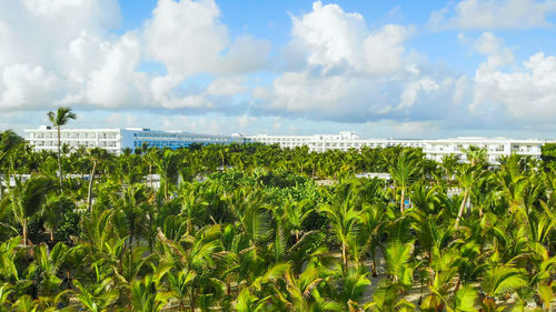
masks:
MULTIPOLYGON (((41 125, 39 129, 24 130, 26 140, 36 151, 57 151, 58 132, 56 129, 41 125)), ((126 129, 62 129, 61 143, 71 148, 102 148, 110 153, 119 154, 126 149, 140 149, 143 143, 149 148, 178 149, 193 143, 226 144, 242 142, 239 134, 198 134, 179 131, 153 131, 147 128, 126 129)))

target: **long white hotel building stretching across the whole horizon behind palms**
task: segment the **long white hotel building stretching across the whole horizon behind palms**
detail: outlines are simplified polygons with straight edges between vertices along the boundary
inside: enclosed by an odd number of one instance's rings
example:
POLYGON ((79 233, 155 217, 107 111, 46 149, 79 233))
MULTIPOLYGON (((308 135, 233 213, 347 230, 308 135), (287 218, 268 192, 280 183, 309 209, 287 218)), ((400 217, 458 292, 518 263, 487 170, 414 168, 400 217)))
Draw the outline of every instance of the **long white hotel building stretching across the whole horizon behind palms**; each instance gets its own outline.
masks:
MULTIPOLYGON (((56 151, 58 144, 57 130, 47 125, 39 129, 24 130, 26 140, 34 150, 56 151)), ((153 131, 146 128, 126 129, 62 129, 62 144, 71 148, 102 148, 119 154, 126 149, 140 149, 143 144, 156 148, 177 149, 192 143, 228 144, 231 142, 260 142, 279 144, 281 148, 294 149, 308 147, 310 152, 327 150, 348 151, 349 149, 410 147, 421 148, 428 159, 440 161, 444 155, 457 154, 465 161, 465 151, 471 145, 487 151, 488 161, 497 163, 502 155, 512 153, 540 158, 540 147, 544 141, 513 140, 505 138, 457 138, 439 140, 394 140, 394 139, 360 139, 355 132, 342 131, 338 134, 314 135, 242 135, 242 134, 198 134, 179 131, 153 131)))

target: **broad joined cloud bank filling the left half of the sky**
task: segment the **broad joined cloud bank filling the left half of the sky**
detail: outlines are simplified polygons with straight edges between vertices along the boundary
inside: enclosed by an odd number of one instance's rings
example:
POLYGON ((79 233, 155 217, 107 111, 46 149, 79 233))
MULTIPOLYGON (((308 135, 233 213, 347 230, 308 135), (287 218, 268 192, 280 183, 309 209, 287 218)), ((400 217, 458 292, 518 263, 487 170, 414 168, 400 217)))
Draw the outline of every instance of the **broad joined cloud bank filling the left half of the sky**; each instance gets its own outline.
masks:
POLYGON ((212 0, 160 0, 141 29, 116 34, 117 0, 2 1, 0 109, 227 111, 245 91, 242 76, 267 66, 271 46, 248 34, 230 38, 219 14, 212 0), (146 60, 166 73, 140 71, 146 60), (215 81, 191 88, 202 73, 215 81))

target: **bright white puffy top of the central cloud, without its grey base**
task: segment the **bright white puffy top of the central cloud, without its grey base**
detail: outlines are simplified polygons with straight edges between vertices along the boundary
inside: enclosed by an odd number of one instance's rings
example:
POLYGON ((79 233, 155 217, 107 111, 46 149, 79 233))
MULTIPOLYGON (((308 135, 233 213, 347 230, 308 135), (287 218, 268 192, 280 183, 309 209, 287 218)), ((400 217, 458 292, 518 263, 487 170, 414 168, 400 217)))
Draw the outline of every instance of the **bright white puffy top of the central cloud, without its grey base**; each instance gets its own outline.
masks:
POLYGON ((292 44, 305 49, 307 63, 325 72, 344 68, 364 73, 389 73, 401 66, 400 46, 410 29, 387 24, 369 32, 359 13, 347 13, 337 4, 312 4, 312 11, 291 17, 292 44))

